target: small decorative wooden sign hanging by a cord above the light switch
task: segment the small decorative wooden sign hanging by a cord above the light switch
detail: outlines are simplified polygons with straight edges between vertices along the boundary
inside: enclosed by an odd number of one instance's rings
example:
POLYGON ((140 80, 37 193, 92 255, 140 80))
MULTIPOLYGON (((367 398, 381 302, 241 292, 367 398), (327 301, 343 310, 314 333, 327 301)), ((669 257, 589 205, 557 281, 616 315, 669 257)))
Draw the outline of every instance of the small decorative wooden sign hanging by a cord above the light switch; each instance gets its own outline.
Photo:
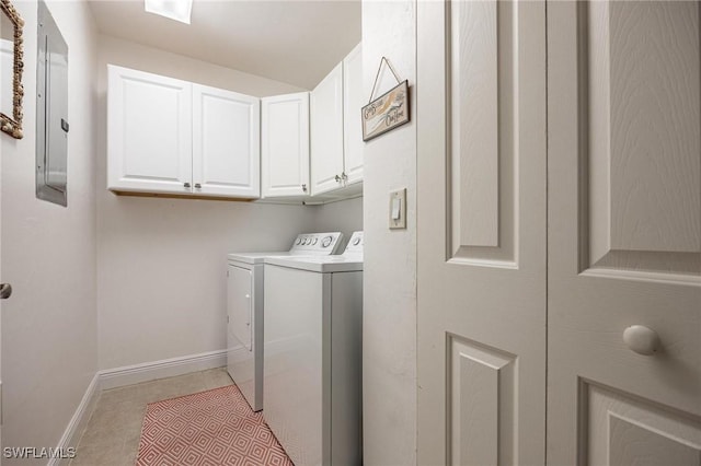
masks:
POLYGON ((384 57, 380 60, 380 68, 378 68, 377 75, 375 77, 375 84, 370 93, 370 103, 364 106, 360 112, 364 141, 368 141, 409 123, 409 81, 404 80, 400 82, 397 72, 394 72, 394 69, 384 57), (387 63, 392 74, 394 74, 394 79, 399 82, 399 85, 372 101, 377 80, 382 69, 382 62, 387 63))

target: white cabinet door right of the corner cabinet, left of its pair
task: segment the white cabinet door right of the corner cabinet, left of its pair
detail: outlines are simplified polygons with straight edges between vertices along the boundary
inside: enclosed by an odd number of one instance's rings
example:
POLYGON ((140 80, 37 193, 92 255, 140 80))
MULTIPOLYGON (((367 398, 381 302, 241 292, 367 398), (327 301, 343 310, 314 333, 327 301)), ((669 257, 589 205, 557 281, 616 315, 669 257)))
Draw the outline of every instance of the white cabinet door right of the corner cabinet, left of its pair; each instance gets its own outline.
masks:
POLYGON ((311 194, 341 187, 343 174, 343 63, 311 92, 311 194))

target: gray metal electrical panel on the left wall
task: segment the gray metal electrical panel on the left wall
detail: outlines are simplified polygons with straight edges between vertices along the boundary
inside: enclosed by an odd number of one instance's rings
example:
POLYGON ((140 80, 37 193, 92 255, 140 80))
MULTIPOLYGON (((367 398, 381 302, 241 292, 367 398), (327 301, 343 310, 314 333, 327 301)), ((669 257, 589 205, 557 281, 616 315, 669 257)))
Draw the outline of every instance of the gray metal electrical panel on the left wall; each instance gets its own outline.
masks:
POLYGON ((36 197, 68 205, 68 45, 38 2, 36 197))

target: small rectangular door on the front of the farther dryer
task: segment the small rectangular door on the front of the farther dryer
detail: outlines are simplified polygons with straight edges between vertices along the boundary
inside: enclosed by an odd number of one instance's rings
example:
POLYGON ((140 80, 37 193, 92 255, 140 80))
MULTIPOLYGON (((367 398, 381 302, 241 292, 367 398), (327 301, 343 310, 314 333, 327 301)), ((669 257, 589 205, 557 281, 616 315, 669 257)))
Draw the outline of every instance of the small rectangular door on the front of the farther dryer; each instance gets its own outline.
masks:
POLYGON ((229 281, 227 286, 227 301, 229 314, 229 348, 245 347, 251 351, 252 303, 251 299, 251 270, 237 266, 229 266, 229 281))

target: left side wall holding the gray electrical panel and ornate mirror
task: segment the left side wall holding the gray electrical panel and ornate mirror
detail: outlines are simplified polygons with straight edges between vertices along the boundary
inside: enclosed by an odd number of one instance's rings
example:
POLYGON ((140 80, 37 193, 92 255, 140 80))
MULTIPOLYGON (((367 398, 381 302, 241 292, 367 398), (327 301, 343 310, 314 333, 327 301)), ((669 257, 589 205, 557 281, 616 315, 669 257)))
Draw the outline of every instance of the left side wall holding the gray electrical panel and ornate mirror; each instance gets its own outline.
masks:
MULTIPOLYGON (((48 2, 69 47, 68 208, 35 197, 36 1, 24 25, 24 139, 2 143, 3 446, 55 446, 97 368, 93 109, 96 35, 83 2, 48 2)), ((5 83, 3 83, 5 84, 5 83)), ((46 464, 23 459, 3 464, 46 464)))

